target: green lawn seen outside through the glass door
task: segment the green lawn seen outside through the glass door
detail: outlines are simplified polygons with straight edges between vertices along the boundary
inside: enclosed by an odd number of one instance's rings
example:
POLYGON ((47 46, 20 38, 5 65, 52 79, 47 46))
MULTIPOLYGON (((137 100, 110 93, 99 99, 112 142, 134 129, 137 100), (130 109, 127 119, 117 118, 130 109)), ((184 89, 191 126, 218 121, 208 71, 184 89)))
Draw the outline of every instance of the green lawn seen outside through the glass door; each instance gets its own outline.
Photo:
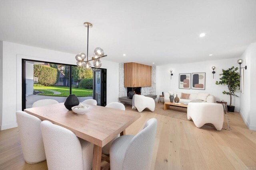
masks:
MULTIPOLYGON (((38 94, 41 96, 67 97, 69 95, 69 87, 34 86, 34 90, 43 92, 43 93, 38 94), (53 94, 53 92, 48 91, 48 90, 55 90, 55 91, 61 92, 61 94, 53 94)), ((92 89, 72 88, 72 94, 75 94, 77 97, 92 96, 92 89)))

